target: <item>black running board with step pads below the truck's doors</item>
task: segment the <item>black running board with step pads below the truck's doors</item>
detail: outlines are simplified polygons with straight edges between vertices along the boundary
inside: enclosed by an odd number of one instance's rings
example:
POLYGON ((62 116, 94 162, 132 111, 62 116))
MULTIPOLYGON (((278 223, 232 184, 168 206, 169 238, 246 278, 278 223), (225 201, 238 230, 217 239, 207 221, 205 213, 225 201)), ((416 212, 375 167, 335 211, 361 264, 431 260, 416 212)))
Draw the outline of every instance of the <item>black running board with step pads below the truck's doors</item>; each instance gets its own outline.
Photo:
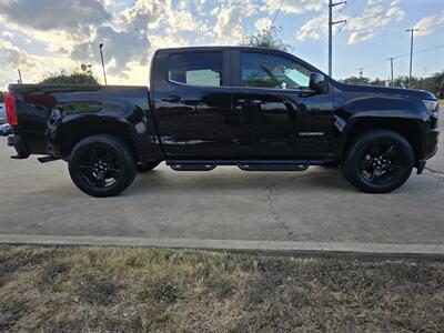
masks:
POLYGON ((171 160, 167 165, 175 171, 210 171, 218 165, 236 165, 244 171, 304 171, 323 161, 273 160, 171 160))

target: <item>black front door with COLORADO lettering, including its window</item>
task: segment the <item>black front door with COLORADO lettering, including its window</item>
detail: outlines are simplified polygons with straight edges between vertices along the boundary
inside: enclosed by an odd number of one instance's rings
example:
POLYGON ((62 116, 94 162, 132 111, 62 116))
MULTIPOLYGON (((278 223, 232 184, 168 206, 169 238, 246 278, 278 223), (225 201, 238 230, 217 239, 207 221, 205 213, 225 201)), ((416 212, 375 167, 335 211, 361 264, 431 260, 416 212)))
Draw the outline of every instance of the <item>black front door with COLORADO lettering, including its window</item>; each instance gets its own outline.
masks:
POLYGON ((273 50, 233 51, 232 63, 238 155, 317 159, 325 153, 332 95, 310 93, 312 68, 273 50))

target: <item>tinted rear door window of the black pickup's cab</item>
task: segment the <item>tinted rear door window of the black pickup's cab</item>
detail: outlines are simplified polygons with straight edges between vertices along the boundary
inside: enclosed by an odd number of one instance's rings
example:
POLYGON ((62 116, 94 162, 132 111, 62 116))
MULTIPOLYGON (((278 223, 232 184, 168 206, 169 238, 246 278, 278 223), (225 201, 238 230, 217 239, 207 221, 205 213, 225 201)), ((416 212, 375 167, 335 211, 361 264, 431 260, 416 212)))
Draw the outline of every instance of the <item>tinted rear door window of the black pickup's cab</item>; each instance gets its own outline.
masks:
POLYGON ((171 54, 168 79, 191 85, 222 85, 222 52, 171 54))

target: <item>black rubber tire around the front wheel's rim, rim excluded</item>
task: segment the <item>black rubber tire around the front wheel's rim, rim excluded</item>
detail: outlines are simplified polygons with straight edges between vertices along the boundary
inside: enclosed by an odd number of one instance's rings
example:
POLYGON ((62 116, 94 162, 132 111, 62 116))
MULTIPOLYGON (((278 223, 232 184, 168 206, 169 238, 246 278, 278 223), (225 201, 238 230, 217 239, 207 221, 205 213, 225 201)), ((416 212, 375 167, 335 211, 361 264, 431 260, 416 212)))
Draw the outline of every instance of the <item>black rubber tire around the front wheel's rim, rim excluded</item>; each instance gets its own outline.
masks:
POLYGON ((375 130, 370 131, 357 138, 352 144, 349 153, 346 154, 345 162, 343 163, 344 176, 356 188, 369 193, 387 193, 396 190, 412 174, 414 167, 414 152, 408 141, 392 131, 375 130), (403 170, 396 178, 389 184, 376 185, 372 184, 363 179, 361 171, 359 170, 359 161, 365 150, 377 141, 393 142, 403 152, 404 165, 403 170))

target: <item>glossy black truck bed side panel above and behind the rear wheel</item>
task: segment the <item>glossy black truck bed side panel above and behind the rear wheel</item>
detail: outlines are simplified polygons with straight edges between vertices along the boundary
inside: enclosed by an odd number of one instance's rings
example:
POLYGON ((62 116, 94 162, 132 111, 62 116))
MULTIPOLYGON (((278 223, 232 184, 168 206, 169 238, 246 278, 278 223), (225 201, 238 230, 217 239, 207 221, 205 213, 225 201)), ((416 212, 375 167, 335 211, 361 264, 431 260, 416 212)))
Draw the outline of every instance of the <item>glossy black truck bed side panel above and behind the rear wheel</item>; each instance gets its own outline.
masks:
POLYGON ((148 112, 147 87, 91 84, 10 84, 19 123, 13 132, 28 154, 52 154, 48 139, 51 117, 63 121, 82 115, 130 117, 134 109, 148 112))

